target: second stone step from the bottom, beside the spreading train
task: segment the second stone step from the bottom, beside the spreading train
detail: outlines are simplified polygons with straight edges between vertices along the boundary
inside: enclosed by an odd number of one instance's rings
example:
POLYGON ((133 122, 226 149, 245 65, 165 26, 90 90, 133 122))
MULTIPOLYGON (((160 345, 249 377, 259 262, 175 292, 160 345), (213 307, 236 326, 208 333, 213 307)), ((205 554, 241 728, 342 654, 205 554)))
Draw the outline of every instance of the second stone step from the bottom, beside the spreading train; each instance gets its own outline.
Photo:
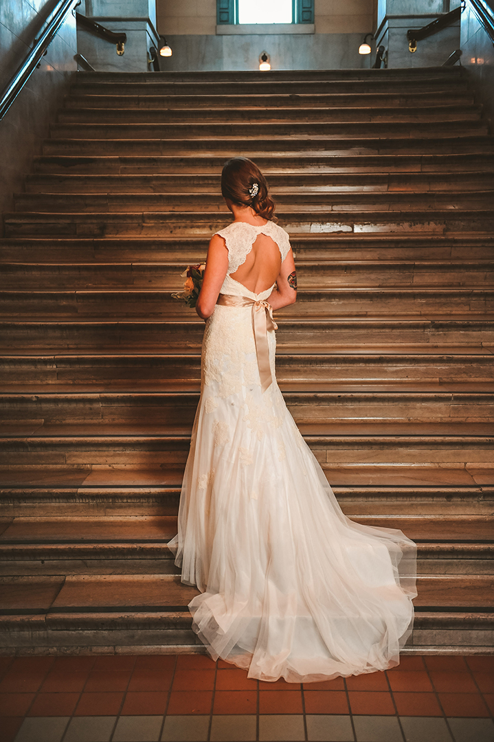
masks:
MULTIPOLYGON (((357 522, 367 522, 357 518, 357 522)), ((165 539, 176 533, 176 519, 17 517, 0 536, 0 575, 56 574, 180 574, 165 539)), ((371 519, 371 525, 392 525, 415 533, 419 574, 493 574, 494 544, 477 542, 480 528, 492 541, 487 519, 441 519, 441 541, 434 540, 437 522, 423 518, 371 519), (447 532, 450 533, 449 540, 447 532)))

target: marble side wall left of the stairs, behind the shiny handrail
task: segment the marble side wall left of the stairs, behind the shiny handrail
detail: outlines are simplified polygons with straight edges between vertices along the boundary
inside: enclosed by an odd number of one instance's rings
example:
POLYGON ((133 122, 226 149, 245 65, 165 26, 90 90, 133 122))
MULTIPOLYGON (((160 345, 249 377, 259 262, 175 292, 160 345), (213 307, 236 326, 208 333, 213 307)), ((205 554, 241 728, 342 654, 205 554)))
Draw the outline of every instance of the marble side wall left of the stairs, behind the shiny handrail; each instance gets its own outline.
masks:
MULTIPOLYGON (((53 0, 0 1, 0 88, 10 82, 33 39, 44 27, 53 0)), ((40 67, 24 86, 0 121, 1 178, 0 213, 12 209, 12 194, 22 189, 24 174, 31 169, 47 137, 50 120, 77 69, 76 20, 69 14, 48 47, 40 67)))

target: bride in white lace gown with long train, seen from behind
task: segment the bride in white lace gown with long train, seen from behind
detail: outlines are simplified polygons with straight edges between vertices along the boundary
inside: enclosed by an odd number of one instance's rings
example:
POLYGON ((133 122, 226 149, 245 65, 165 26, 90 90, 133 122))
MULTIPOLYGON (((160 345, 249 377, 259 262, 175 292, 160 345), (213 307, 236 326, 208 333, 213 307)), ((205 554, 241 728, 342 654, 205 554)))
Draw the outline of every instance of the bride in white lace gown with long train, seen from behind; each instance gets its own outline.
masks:
POLYGON ((169 546, 208 653, 260 680, 395 666, 412 627, 415 544, 352 522, 286 408, 272 309, 294 303, 289 236, 254 162, 226 162, 234 220, 211 239, 197 314, 201 396, 169 546))

